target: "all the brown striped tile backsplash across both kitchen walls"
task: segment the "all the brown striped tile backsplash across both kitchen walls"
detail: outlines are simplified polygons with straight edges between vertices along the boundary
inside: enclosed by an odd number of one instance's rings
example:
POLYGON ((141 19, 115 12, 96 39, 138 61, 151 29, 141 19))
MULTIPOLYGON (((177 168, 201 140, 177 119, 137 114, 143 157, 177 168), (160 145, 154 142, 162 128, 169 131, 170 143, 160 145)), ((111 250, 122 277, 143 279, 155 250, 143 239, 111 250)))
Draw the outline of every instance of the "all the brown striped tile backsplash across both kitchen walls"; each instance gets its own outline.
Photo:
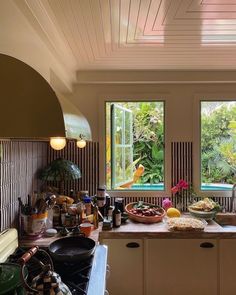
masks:
MULTIPOLYGON (((82 177, 76 181, 67 182, 65 193, 88 190, 90 195, 96 193, 99 184, 99 144, 88 142, 84 149, 76 147, 74 141, 69 141, 62 151, 52 150, 47 142, 30 141, 0 141, 0 230, 17 226, 18 197, 25 202, 27 195, 39 190, 41 182, 37 178, 39 169, 52 160, 63 157, 76 163, 82 177)), ((101 163, 100 163, 101 164, 101 163)), ((192 143, 171 143, 171 184, 180 179, 192 184, 192 143)), ((55 186, 57 184, 55 183, 55 186)), ((184 192, 182 210, 187 209, 189 193, 184 192)), ((229 198, 219 197, 216 201, 229 209, 229 198)), ((114 202, 114 198, 112 198, 114 202)), ((125 204, 143 200, 161 205, 162 197, 126 197, 125 204)), ((172 196, 175 204, 175 197, 172 196)))

